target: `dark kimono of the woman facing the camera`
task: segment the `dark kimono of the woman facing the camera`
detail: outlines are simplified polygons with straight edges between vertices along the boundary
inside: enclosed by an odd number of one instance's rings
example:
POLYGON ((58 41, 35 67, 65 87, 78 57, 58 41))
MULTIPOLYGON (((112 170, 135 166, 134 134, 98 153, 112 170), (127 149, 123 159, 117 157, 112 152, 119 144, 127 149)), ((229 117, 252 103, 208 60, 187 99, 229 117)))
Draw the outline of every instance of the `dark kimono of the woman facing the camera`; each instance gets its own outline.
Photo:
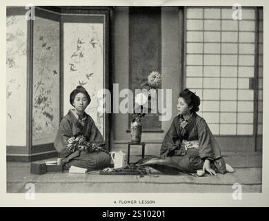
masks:
POLYGON ((98 146, 105 146, 105 142, 97 126, 90 115, 86 114, 84 126, 81 125, 73 111, 63 117, 59 125, 59 130, 55 138, 54 147, 63 159, 65 168, 69 169, 70 166, 78 166, 88 170, 102 169, 110 166, 111 157, 108 153, 85 151, 72 151, 66 146, 70 137, 83 135, 88 142, 93 142, 98 146))

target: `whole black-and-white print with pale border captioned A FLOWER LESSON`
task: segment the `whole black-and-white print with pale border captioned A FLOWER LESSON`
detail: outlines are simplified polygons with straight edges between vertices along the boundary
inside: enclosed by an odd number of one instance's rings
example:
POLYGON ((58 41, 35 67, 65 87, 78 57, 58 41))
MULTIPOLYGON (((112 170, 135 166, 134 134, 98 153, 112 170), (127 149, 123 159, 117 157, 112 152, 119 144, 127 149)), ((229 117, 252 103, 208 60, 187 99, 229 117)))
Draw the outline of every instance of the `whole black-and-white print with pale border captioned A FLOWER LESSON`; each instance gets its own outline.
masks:
POLYGON ((265 200, 264 8, 6 3, 5 197, 34 205, 39 193, 77 194, 90 205, 106 196, 108 206, 178 206, 181 193, 191 195, 187 204, 265 200))

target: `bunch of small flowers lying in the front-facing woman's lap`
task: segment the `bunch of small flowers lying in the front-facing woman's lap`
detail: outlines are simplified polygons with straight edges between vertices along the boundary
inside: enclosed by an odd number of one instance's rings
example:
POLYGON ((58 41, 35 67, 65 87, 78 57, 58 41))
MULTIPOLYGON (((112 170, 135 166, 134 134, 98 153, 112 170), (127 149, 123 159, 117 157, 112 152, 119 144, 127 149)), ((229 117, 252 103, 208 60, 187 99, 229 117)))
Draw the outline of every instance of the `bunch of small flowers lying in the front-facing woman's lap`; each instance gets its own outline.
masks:
POLYGON ((97 144, 87 142, 86 137, 84 137, 83 135, 79 135, 77 137, 70 137, 68 139, 67 148, 69 151, 72 151, 72 152, 82 150, 88 153, 91 153, 91 152, 108 153, 108 151, 106 151, 105 148, 102 148, 101 146, 97 146, 97 144))

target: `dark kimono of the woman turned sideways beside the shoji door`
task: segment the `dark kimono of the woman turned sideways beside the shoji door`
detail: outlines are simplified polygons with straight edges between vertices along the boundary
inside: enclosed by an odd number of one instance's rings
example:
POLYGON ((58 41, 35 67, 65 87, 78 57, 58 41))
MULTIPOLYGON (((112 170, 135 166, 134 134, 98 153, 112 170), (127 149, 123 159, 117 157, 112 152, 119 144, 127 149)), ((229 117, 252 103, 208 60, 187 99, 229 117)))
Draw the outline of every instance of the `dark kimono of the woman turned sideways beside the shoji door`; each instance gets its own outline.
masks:
POLYGON ((181 126, 183 117, 178 115, 172 121, 169 131, 161 145, 161 157, 168 164, 177 166, 183 172, 192 173, 203 168, 204 160, 210 160, 210 166, 215 172, 226 173, 226 164, 221 157, 221 150, 217 140, 212 135, 206 121, 193 113, 187 120, 185 127, 181 126), (182 142, 197 142, 197 148, 188 146, 182 142))

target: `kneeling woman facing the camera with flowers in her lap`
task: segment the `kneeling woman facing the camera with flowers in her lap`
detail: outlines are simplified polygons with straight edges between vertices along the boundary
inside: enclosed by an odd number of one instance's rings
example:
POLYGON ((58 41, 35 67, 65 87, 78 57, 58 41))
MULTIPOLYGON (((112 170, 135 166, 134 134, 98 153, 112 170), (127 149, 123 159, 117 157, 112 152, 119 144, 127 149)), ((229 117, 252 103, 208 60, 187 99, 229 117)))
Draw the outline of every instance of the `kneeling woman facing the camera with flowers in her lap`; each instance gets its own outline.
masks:
POLYGON ((90 104, 90 95, 83 86, 77 86, 72 91, 70 104, 74 106, 74 109, 70 109, 61 120, 54 142, 54 147, 63 159, 65 169, 69 169, 70 166, 78 166, 88 170, 96 170, 110 166, 111 157, 106 153, 103 137, 95 126, 92 117, 84 112, 90 104), (79 136, 83 136, 86 142, 94 144, 103 151, 87 151, 85 146, 70 148, 68 145, 70 138, 79 136))

